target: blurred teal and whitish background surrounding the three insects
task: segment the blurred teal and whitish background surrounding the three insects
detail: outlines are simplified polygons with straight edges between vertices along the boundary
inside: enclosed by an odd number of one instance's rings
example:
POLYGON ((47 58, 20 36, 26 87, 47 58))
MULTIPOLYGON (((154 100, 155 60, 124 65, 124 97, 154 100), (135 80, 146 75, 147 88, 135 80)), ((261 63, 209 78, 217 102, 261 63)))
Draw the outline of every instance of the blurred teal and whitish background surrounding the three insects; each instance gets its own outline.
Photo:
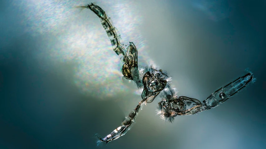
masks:
MULTIPOLYGON (((87 0, 0 1, 0 148, 90 148, 94 134, 120 126, 141 100, 122 79, 87 0)), ((265 0, 96 1, 139 66, 173 76, 180 96, 205 100, 244 74, 257 82, 221 106, 174 123, 143 107, 134 127, 104 148, 264 149, 266 145, 265 0)))

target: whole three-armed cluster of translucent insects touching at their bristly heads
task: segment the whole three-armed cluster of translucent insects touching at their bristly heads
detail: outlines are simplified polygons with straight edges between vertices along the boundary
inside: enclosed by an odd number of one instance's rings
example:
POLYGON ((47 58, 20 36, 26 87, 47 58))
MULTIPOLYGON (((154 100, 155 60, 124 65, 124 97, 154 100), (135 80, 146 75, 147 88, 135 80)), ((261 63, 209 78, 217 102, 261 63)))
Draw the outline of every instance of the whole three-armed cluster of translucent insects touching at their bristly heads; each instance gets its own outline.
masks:
POLYGON ((122 66, 122 74, 126 79, 135 81, 138 88, 143 87, 143 92, 141 94, 142 100, 139 102, 138 106, 131 111, 121 126, 106 137, 99 138, 98 143, 108 143, 126 134, 126 132, 131 129, 132 124, 135 123, 136 115, 141 106, 154 101, 155 97, 161 92, 161 100, 158 103, 159 110, 157 114, 159 114, 163 120, 173 122, 174 117, 177 115, 192 115, 215 108, 243 90, 249 83, 254 82, 252 73, 248 72, 246 75, 216 90, 202 103, 194 98, 185 96, 179 97, 177 95, 177 90, 169 85, 171 77, 169 77, 166 71, 154 65, 146 66, 145 69, 138 69, 137 48, 132 42, 129 42, 128 47, 124 47, 119 31, 114 27, 112 20, 101 7, 91 3, 88 6, 77 6, 77 8, 81 8, 82 10, 88 8, 100 18, 102 26, 110 38, 113 50, 124 63, 122 66))

